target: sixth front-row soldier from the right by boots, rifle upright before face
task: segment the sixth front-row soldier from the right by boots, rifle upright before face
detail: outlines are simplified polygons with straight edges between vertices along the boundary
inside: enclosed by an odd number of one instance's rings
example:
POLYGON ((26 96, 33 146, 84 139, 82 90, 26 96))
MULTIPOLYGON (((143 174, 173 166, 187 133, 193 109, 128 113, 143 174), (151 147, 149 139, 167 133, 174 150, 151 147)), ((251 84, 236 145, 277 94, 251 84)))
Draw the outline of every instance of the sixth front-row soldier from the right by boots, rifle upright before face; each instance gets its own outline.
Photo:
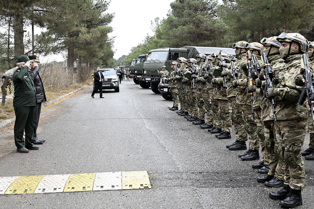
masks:
MULTIPOLYGON (((227 54, 221 54, 220 56, 223 57, 225 62, 220 63, 218 67, 222 70, 222 67, 230 68, 230 65, 227 64, 230 62, 230 55, 227 54), (223 66, 225 65, 225 66, 223 66)), ((225 138, 231 138, 230 132, 232 127, 232 122, 230 118, 230 112, 229 112, 229 102, 227 99, 227 89, 224 85, 227 85, 227 82, 224 83, 224 77, 217 77, 212 79, 212 83, 216 84, 216 93, 214 93, 214 98, 218 102, 218 110, 219 110, 219 120, 221 120, 222 124, 222 132, 219 134, 216 134, 215 137, 219 139, 225 139, 225 138)))

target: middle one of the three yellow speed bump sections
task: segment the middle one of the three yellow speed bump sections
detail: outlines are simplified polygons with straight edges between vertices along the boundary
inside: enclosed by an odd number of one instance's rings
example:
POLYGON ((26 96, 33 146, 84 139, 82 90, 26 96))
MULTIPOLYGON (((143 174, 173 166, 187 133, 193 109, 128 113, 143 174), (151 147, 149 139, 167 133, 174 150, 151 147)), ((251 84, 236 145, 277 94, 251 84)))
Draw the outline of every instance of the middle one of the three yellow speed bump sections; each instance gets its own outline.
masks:
POLYGON ((70 175, 63 192, 92 191, 95 175, 96 173, 70 175))

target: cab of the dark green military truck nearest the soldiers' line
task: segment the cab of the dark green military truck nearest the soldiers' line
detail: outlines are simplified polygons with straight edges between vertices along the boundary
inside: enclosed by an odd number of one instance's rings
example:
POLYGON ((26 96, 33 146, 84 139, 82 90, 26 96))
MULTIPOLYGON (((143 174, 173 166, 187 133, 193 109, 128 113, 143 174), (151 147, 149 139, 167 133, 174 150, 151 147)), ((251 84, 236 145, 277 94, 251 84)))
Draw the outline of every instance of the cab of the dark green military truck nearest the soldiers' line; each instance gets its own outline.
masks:
MULTIPOLYGON (((150 50, 146 61, 143 66, 144 76, 140 78, 140 81, 150 83, 151 90, 159 94, 158 84, 160 83, 160 77, 158 71, 161 71, 161 66, 165 65, 167 71, 171 71, 170 63, 177 61, 179 57, 188 57, 187 49, 181 48, 160 48, 150 50)), ((188 58, 187 58, 188 59, 188 58)))

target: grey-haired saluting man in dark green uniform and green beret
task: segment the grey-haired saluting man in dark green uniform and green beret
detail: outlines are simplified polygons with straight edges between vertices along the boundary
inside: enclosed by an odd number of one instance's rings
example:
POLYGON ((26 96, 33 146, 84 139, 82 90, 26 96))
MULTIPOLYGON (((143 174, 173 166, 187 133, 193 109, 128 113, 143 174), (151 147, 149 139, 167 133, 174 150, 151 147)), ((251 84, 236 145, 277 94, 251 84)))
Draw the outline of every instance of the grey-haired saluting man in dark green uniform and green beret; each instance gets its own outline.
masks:
POLYGON ((26 55, 20 55, 16 60, 19 67, 13 74, 15 111, 14 141, 17 152, 28 153, 29 149, 39 149, 34 146, 34 108, 37 104, 34 81, 27 70, 31 67, 30 59, 26 55), (25 131, 25 142, 23 133, 25 131))

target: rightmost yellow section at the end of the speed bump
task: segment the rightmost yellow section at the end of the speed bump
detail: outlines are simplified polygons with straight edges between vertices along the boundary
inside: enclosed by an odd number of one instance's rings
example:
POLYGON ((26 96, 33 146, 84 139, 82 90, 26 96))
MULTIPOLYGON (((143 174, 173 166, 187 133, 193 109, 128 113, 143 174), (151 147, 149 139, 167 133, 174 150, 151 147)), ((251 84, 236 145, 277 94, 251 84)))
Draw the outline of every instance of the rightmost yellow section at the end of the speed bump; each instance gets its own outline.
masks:
POLYGON ((122 171, 122 189, 144 189, 152 187, 147 171, 122 171))

